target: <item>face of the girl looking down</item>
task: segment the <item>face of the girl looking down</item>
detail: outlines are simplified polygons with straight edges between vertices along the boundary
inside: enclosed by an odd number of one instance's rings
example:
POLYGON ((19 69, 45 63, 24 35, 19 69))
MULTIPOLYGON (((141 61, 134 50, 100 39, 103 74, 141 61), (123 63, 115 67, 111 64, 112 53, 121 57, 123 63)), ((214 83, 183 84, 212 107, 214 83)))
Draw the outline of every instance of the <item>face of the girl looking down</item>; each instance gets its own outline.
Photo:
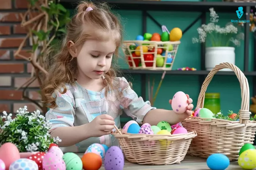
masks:
POLYGON ((100 79, 111 67, 116 43, 113 40, 87 40, 77 56, 78 77, 100 79))

